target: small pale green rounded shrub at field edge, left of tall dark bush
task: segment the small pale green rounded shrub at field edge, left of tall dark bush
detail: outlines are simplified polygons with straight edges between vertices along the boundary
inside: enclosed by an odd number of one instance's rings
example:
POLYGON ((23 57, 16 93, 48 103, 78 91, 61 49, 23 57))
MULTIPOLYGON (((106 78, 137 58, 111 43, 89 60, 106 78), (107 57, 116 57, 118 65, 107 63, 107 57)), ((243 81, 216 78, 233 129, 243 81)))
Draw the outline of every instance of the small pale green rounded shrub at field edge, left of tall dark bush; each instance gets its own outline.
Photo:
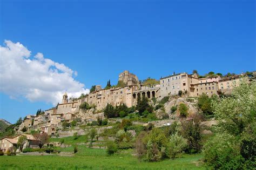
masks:
POLYGON ((169 157, 174 159, 187 146, 187 140, 178 133, 171 135, 168 145, 169 157))

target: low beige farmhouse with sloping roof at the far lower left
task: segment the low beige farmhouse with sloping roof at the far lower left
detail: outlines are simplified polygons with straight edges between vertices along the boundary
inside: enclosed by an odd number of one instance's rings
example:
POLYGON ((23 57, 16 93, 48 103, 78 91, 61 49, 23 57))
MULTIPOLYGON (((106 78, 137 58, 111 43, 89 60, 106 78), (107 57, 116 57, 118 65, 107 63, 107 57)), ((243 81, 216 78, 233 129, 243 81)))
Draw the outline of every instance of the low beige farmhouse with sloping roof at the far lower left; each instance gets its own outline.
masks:
POLYGON ((33 135, 30 134, 18 134, 14 137, 4 137, 0 140, 0 146, 1 146, 1 150, 5 153, 8 151, 8 149, 10 149, 11 147, 16 147, 17 151, 19 152, 19 149, 17 147, 17 143, 18 143, 18 139, 21 136, 25 136, 27 141, 23 147, 27 148, 27 147, 31 147, 31 148, 38 148, 38 141, 33 137, 33 135))

